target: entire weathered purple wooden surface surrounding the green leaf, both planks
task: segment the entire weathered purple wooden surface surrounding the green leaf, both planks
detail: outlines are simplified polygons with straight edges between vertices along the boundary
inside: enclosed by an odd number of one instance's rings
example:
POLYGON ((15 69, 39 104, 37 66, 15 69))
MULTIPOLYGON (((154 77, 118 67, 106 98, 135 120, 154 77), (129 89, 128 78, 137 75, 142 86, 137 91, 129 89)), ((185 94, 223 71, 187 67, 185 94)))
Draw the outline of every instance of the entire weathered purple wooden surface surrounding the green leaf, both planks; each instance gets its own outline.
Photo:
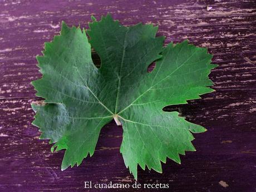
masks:
POLYGON ((0 191, 89 191, 83 181, 134 182, 114 122, 102 129, 95 154, 65 171, 63 151, 52 154, 31 125, 30 104, 41 99, 30 82, 40 77, 35 56, 43 42, 58 34, 62 20, 87 27, 91 14, 107 12, 123 24, 159 25, 167 43, 189 38, 219 64, 210 75, 216 92, 166 107, 208 129, 195 135, 197 151, 181 156, 181 165, 168 160, 163 174, 139 169, 138 181, 169 183, 169 191, 256 191, 255 9, 255 1, 0 1, 0 191))

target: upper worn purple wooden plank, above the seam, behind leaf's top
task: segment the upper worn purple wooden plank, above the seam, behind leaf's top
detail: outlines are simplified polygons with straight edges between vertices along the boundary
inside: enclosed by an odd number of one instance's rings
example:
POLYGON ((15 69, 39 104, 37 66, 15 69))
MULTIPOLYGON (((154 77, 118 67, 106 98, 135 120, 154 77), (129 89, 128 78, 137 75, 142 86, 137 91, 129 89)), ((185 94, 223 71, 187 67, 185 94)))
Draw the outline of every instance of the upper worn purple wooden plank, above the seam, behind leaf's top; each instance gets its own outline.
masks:
POLYGON ((175 3, 134 1, 93 1, 60 3, 43 2, 3 5, 1 21, 1 90, 0 98, 35 97, 30 82, 40 77, 36 55, 41 55, 43 43, 60 32, 62 20, 87 28, 91 14, 100 18, 112 13, 123 24, 138 22, 159 26, 158 35, 165 42, 180 42, 189 38, 198 46, 208 47, 219 64, 213 78, 217 90, 255 88, 255 2, 215 2, 206 10, 206 2, 175 3))

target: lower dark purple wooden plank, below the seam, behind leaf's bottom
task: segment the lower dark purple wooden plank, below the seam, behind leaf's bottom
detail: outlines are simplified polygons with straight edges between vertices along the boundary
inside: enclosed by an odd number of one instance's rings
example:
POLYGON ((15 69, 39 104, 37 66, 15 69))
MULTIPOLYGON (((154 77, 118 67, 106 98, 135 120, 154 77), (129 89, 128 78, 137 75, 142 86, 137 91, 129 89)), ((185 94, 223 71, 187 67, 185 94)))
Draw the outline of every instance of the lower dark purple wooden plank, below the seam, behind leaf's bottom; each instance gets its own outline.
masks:
MULTIPOLYGON (((168 110, 178 110, 188 120, 207 127, 208 132, 195 135, 193 143, 197 151, 182 156, 181 165, 168 160, 163 164, 163 174, 139 169, 139 182, 169 183, 173 191, 252 191, 256 160, 256 116, 252 104, 256 98, 250 96, 255 93, 254 90, 215 92, 189 105, 169 107, 168 110), (245 101, 248 97, 251 99, 245 101), (227 182, 228 188, 219 185, 221 180, 227 182)), ((82 190, 83 181, 134 182, 119 153, 122 129, 115 122, 102 129, 92 157, 78 168, 61 171, 63 151, 52 154, 51 145, 38 140, 37 128, 31 125, 30 103, 38 100, 12 99, 0 103, 0 189, 82 190)))

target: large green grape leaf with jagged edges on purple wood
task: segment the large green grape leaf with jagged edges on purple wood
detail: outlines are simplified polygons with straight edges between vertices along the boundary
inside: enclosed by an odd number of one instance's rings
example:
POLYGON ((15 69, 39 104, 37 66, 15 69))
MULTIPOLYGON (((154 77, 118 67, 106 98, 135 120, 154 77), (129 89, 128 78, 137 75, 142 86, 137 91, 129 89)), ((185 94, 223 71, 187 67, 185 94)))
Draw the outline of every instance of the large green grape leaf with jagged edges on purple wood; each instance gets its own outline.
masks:
POLYGON ((52 151, 66 150, 65 170, 93 155, 101 128, 115 119, 124 130, 120 152, 135 179, 138 164, 161 173, 166 157, 180 163, 179 154, 195 151, 191 132, 205 129, 163 107, 214 91, 208 77, 216 67, 212 56, 188 41, 163 47, 164 37, 156 37, 152 24, 125 27, 110 14, 92 19, 87 31, 62 22, 61 35, 37 56, 43 76, 32 85, 45 105, 32 108, 40 139, 55 143, 52 151), (92 61, 91 46, 100 68, 92 61), (154 61, 156 67, 147 72, 154 61))

